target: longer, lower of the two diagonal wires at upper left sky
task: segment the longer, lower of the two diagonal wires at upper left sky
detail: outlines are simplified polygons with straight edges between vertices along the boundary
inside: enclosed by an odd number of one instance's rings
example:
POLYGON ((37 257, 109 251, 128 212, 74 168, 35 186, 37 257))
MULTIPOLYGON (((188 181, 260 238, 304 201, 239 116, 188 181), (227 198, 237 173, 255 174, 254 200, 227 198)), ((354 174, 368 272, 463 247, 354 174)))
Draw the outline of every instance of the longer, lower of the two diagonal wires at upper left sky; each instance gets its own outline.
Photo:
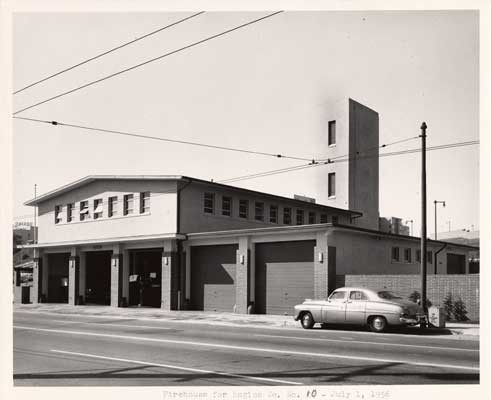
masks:
POLYGON ((190 48, 192 48, 192 47, 198 46, 199 44, 202 44, 202 43, 208 42, 209 40, 216 39, 216 38, 221 37, 221 36, 224 36, 224 35, 226 35, 226 34, 228 34, 228 33, 234 32, 234 31, 236 31, 236 30, 238 30, 238 29, 241 29, 241 28, 244 28, 244 27, 246 27, 246 26, 249 26, 249 25, 255 24, 255 23, 257 23, 257 22, 263 21, 263 20, 265 20, 265 19, 267 19, 267 18, 271 18, 271 17, 273 17, 273 16, 275 16, 275 15, 277 15, 277 14, 280 14, 280 13, 282 13, 282 12, 283 12, 283 11, 277 11, 277 12, 274 12, 274 13, 272 13, 272 14, 265 15, 265 16, 263 16, 263 17, 261 17, 261 18, 257 18, 257 19, 254 19, 254 20, 252 20, 252 21, 246 22, 246 23, 244 23, 244 24, 238 25, 238 26, 236 26, 236 27, 234 27, 234 28, 228 29, 228 30, 226 30, 226 31, 223 31, 223 32, 217 33, 217 34, 212 35, 212 36, 209 36, 209 37, 207 37, 207 38, 205 38, 205 39, 202 39, 202 40, 199 40, 199 41, 197 41, 197 42, 191 43, 191 44, 189 44, 189 45, 187 45, 187 46, 181 47, 181 48, 176 49, 176 50, 172 50, 172 51, 167 52, 167 53, 165 53, 165 54, 162 54, 162 55, 160 55, 160 56, 158 56, 158 57, 151 58, 150 60, 147 60, 147 61, 141 62, 141 63, 139 63, 139 64, 133 65, 133 66, 128 67, 128 68, 125 68, 125 69, 122 69, 122 70, 120 70, 120 71, 118 71, 118 72, 114 72, 114 73, 112 73, 112 74, 110 74, 110 75, 106 75, 106 76, 104 76, 104 77, 102 77, 102 78, 100 78, 100 79, 97 79, 97 80, 95 80, 95 81, 91 81, 91 82, 88 82, 88 83, 86 83, 86 84, 84 84, 84 85, 77 86, 77 87, 76 87, 76 88, 74 88, 74 89, 68 90, 68 91, 66 91, 66 92, 59 93, 59 94, 57 94, 56 96, 50 97, 50 98, 48 98, 48 99, 45 99, 45 100, 39 101, 39 102, 37 102, 37 103, 35 103, 35 104, 31 104, 30 106, 27 106, 27 107, 24 107, 24 108, 22 108, 22 109, 20 109, 20 110, 17 110, 17 111, 15 111, 15 112, 14 112, 14 115, 17 115, 17 114, 19 114, 19 113, 21 113, 21 112, 24 112, 24 111, 26 111, 26 110, 30 110, 31 108, 34 108, 34 107, 40 106, 41 104, 48 103, 48 102, 53 101, 53 100, 55 100, 55 99, 59 99, 60 97, 66 96, 66 95, 68 95, 68 94, 71 94, 71 93, 77 92, 77 91, 79 91, 79 90, 85 89, 85 88, 87 88, 87 87, 89 87, 89 86, 92 86, 92 85, 95 85, 95 84, 97 84, 97 83, 101 83, 101 82, 106 81, 106 80, 108 80, 108 79, 114 78, 115 76, 118 76, 118 75, 124 74, 124 73, 126 73, 126 72, 132 71, 132 70, 137 69, 137 68, 140 68, 140 67, 142 67, 142 66, 144 66, 144 65, 147 65, 147 64, 153 63, 153 62, 158 61, 158 60, 162 60, 162 59, 163 59, 163 58, 165 58, 165 57, 169 57, 169 56, 171 56, 171 55, 173 55, 173 54, 176 54, 176 53, 179 53, 179 52, 181 52, 181 51, 184 51, 184 50, 190 49, 190 48))

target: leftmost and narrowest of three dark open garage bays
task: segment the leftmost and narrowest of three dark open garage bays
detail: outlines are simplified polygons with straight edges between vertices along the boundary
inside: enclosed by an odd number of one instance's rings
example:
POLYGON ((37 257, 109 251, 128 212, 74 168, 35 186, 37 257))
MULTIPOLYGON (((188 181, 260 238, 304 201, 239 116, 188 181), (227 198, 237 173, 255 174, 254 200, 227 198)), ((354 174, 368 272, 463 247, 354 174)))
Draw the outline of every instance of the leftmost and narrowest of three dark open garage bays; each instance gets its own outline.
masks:
POLYGON ((70 253, 48 254, 48 302, 68 303, 70 253))

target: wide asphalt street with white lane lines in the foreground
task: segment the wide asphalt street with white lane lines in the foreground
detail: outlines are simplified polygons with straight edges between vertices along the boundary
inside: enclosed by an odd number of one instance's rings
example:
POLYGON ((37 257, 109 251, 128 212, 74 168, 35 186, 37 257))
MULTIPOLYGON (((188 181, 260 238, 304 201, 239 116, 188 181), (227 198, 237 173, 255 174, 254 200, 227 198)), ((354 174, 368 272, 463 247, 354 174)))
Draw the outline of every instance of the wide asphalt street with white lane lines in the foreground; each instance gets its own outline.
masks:
POLYGON ((479 383, 479 342, 14 312, 16 386, 479 383))

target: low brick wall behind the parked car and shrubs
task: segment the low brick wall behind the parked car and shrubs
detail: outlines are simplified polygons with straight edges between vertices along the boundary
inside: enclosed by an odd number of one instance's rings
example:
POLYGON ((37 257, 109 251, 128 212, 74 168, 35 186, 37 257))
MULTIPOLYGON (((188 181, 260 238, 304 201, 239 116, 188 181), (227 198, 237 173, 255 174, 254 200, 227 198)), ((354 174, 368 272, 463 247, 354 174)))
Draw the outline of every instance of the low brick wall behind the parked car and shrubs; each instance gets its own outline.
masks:
MULTIPOLYGON (((420 292, 420 275, 337 275, 337 288, 359 286, 369 289, 386 288, 408 298, 414 290, 420 292)), ((429 275, 427 298, 434 306, 441 306, 446 294, 464 301, 468 318, 480 319, 480 275, 429 275)))

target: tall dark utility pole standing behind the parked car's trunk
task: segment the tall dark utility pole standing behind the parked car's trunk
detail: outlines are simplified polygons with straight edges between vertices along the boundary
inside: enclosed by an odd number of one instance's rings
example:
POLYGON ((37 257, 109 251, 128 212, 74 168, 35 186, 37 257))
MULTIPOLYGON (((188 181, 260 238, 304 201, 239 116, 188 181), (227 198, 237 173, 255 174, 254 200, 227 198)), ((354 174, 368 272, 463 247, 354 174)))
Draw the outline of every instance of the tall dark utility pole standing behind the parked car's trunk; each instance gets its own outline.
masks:
MULTIPOLYGON (((420 126, 422 134, 422 178, 421 178, 421 211, 422 211, 422 229, 420 238, 420 278, 421 278, 421 296, 420 305, 427 315, 427 171, 426 171, 426 129, 427 125, 422 122, 420 126)), ((420 327, 425 328, 427 322, 420 324, 420 327)))

